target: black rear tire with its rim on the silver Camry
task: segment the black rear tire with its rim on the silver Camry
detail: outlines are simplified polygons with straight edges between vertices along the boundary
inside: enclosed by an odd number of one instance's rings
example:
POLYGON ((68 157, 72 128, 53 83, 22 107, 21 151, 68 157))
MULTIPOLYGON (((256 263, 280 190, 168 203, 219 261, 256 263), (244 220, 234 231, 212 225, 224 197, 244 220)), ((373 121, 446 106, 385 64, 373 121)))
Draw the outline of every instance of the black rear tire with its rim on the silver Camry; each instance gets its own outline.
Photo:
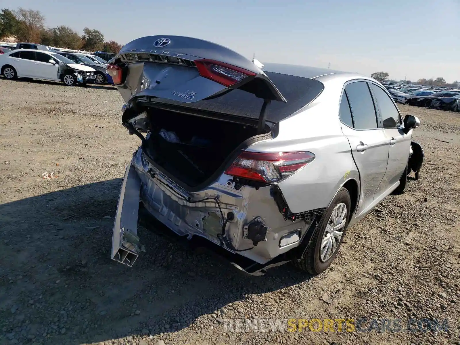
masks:
MULTIPOLYGON (((334 260, 335 256, 337 255, 340 245, 342 244, 342 241, 344 239, 345 231, 350 221, 350 210, 350 193, 346 188, 340 188, 339 192, 335 195, 333 201, 331 202, 331 205, 328 207, 326 213, 324 213, 318 226, 316 227, 316 230, 313 233, 313 236, 311 237, 311 245, 310 247, 308 247, 304 258, 300 260, 294 259, 293 265, 298 269, 304 272, 308 272, 312 275, 318 275, 323 271, 327 270, 328 267, 331 265, 332 261, 334 260), (345 214, 343 211, 343 207, 345 207, 345 214), (329 223, 334 221, 333 213, 334 215, 336 215, 336 212, 339 213, 338 220, 341 219, 343 225, 334 231, 330 231, 331 227, 328 225, 329 223), (339 239, 339 243, 337 243, 337 237, 330 234, 339 234, 340 232, 341 236, 339 239), (322 246, 323 241, 325 242, 324 246, 322 246), (324 249, 327 249, 329 245, 332 246, 332 253, 330 251, 322 250, 322 247, 324 247, 324 249)), ((337 226, 339 226, 340 224, 338 224, 337 226)))

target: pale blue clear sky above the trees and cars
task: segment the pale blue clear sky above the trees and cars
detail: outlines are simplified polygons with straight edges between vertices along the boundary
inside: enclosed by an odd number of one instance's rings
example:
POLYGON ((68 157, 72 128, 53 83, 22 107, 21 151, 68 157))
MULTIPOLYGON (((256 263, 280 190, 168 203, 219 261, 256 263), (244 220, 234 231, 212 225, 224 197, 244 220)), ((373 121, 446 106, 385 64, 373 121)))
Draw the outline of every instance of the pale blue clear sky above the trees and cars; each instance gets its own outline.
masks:
POLYGON ((98 29, 121 44, 183 35, 261 62, 460 81, 460 0, 0 1, 18 6, 40 10, 49 27, 98 29))

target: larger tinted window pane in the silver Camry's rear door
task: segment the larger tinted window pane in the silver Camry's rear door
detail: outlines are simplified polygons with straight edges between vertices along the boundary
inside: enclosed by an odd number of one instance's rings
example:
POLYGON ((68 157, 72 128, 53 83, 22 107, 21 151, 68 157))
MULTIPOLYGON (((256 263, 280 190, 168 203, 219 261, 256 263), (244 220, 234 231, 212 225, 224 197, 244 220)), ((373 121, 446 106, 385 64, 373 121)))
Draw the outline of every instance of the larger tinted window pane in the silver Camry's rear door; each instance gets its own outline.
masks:
POLYGON ((345 87, 356 129, 377 128, 377 115, 368 83, 355 81, 345 87))

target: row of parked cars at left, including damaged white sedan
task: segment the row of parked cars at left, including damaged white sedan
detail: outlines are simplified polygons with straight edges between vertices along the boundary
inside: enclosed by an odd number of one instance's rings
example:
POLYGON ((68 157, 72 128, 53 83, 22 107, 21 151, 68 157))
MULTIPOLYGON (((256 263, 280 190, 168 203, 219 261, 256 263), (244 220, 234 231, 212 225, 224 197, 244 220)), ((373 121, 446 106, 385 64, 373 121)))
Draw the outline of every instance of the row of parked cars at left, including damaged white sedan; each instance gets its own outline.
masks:
POLYGON ((0 46, 0 71, 6 79, 62 81, 67 86, 113 84, 108 62, 99 56, 110 57, 109 53, 63 52, 33 43, 17 43, 12 48, 0 46))

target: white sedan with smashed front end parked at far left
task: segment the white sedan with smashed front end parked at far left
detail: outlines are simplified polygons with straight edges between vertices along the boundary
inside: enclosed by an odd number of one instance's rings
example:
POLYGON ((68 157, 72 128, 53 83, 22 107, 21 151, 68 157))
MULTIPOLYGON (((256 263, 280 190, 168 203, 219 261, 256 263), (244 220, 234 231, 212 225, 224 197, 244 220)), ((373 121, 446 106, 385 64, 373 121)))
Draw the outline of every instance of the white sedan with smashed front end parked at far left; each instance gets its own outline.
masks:
POLYGON ((35 78, 62 81, 64 85, 86 84, 95 69, 74 63, 54 52, 19 49, 0 55, 1 74, 6 79, 35 78))

